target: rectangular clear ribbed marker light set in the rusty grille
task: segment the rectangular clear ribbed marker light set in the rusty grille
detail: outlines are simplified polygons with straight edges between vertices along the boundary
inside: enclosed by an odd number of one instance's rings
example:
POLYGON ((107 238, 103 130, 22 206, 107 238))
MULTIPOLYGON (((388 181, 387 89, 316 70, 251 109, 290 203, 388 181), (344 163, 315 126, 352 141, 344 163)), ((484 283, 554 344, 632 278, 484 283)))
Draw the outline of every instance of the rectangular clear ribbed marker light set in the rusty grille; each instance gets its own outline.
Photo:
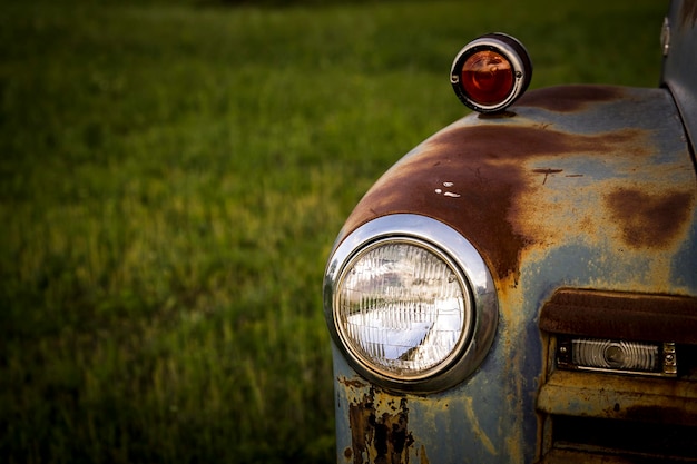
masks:
POLYGON ((637 343, 597 338, 559 338, 560 367, 675 376, 674 343, 637 343))

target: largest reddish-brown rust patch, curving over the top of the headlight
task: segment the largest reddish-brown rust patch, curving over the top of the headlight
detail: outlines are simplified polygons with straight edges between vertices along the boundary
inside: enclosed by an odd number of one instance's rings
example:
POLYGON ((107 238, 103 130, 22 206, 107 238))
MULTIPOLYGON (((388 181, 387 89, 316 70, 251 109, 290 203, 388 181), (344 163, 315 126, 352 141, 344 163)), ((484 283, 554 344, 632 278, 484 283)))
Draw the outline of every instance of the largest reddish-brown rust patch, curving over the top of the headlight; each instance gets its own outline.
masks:
POLYGON ((523 162, 540 156, 607 156, 620 147, 640 155, 642 136, 637 129, 577 135, 505 122, 451 129, 393 166, 356 206, 345 230, 387 214, 438 218, 477 244, 500 278, 517 282, 520 253, 533 240, 517 226, 516 215, 524 211, 517 213, 513 203, 538 186, 523 162), (444 181, 457 186, 458 198, 436 200, 442 197, 434 189, 444 181))

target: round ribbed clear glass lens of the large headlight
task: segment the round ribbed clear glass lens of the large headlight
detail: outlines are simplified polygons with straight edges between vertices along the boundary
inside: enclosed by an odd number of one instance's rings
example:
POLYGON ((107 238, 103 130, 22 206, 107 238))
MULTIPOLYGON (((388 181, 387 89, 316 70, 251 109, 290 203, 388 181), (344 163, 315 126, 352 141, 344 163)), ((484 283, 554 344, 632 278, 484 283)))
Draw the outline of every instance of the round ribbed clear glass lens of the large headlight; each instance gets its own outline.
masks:
POLYGON ((359 251, 344 267, 335 298, 334 320, 345 345, 393 378, 445 368, 472 324, 462 274, 416 239, 384 239, 359 251))

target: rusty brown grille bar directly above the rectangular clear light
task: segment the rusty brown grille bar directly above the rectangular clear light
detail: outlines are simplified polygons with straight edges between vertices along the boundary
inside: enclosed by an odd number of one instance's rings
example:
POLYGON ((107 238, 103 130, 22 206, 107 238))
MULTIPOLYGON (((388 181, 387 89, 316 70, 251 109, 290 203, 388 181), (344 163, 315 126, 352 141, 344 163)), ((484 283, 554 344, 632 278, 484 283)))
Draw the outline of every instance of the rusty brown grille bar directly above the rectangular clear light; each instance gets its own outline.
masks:
POLYGON ((697 344, 697 298, 561 289, 542 306, 540 328, 595 338, 697 344))

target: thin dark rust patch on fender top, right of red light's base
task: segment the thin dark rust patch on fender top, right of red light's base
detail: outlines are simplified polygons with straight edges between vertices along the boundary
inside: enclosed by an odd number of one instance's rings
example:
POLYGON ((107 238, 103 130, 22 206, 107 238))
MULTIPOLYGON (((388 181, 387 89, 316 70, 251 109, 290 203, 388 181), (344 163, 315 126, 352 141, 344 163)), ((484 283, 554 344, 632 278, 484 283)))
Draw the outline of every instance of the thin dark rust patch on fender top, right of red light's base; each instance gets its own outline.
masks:
POLYGON ((622 98, 619 87, 611 86, 559 86, 530 91, 522 96, 517 106, 537 107, 549 111, 573 112, 590 103, 622 98))

